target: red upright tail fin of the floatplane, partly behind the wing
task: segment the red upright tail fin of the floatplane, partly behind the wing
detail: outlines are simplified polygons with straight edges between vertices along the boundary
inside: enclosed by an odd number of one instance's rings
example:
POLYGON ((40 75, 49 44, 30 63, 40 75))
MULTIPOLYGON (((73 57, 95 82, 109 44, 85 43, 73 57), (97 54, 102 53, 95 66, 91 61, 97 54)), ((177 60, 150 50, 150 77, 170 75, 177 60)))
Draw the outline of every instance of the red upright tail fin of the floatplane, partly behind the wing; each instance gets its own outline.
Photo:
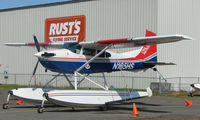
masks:
MULTIPOLYGON (((156 36, 154 32, 146 30, 145 37, 156 36)), ((149 59, 149 61, 157 62, 157 45, 143 46, 140 53, 136 56, 137 59, 149 59)))

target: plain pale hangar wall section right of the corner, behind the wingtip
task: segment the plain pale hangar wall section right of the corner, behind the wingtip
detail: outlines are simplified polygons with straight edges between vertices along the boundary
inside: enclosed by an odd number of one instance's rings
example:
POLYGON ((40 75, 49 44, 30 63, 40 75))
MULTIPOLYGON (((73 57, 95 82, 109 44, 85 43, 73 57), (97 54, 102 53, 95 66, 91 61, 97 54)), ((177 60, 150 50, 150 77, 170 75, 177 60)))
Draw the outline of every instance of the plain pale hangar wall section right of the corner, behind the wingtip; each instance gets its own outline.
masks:
POLYGON ((200 76, 199 6, 199 0, 158 0, 158 34, 184 34, 194 38, 158 46, 160 61, 177 64, 159 67, 166 77, 200 76))

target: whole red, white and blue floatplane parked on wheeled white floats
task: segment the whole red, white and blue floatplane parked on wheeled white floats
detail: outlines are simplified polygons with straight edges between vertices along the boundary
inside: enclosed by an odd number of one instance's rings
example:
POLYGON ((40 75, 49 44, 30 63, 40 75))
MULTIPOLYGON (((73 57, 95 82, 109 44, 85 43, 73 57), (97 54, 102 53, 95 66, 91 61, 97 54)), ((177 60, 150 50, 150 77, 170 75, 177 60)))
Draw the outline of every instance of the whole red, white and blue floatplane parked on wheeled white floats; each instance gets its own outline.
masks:
MULTIPOLYGON (((156 36, 151 31, 146 31, 145 37, 123 38, 111 40, 98 40, 90 42, 59 42, 59 43, 39 43, 34 36, 34 43, 5 43, 7 46, 36 46, 38 62, 34 68, 35 75, 38 63, 40 62, 46 70, 57 72, 58 74, 47 82, 43 88, 19 88, 9 92, 7 103, 3 105, 6 109, 10 95, 20 99, 31 101, 42 101, 38 112, 43 112, 43 104, 50 101, 61 106, 103 106, 115 101, 123 101, 133 98, 151 96, 152 91, 148 88, 147 92, 128 92, 109 90, 107 81, 102 86, 88 75, 92 73, 105 73, 114 71, 138 71, 153 68, 156 65, 171 65, 172 63, 157 62, 156 44, 177 42, 180 40, 190 40, 185 35, 165 35, 156 36), (62 46, 56 50, 40 50, 40 46, 62 46), (115 53, 108 49, 141 47, 140 49, 115 53), (57 76, 63 74, 72 90, 50 90, 45 88, 57 76), (70 81, 66 74, 74 76, 74 83, 70 81), (82 77, 78 80, 78 77, 82 77), (80 90, 78 85, 83 80, 88 80, 103 90, 80 90), (45 98, 44 98, 44 97, 45 98)), ((103 74, 104 75, 104 74, 103 74)))

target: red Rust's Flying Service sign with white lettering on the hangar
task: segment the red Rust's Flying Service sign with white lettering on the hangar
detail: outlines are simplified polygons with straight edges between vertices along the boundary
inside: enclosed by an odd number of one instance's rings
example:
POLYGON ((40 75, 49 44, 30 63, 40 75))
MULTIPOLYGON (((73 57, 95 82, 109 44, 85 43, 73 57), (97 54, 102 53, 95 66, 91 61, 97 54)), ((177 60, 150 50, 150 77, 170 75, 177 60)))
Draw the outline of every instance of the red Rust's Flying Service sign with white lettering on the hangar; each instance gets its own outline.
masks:
POLYGON ((48 18, 45 21, 45 42, 85 41, 85 15, 48 18))

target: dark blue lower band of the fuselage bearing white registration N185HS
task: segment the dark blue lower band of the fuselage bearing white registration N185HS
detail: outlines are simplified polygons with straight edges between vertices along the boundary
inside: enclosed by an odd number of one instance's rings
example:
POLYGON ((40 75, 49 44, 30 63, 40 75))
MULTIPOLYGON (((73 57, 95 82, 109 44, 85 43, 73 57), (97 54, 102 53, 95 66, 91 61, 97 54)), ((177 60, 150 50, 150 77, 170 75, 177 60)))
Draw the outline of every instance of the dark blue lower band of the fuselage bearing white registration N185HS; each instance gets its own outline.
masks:
MULTIPOLYGON (((99 73, 99 72, 113 72, 113 71, 132 71, 136 69, 144 69, 143 62, 157 62, 157 56, 154 56, 150 60, 144 60, 141 62, 91 62, 89 66, 84 67, 80 73, 99 73)), ((85 62, 72 62, 72 61, 49 61, 49 60, 41 60, 41 64, 53 71, 53 72, 61 72, 61 73, 74 73, 80 66, 82 66, 85 62)))

